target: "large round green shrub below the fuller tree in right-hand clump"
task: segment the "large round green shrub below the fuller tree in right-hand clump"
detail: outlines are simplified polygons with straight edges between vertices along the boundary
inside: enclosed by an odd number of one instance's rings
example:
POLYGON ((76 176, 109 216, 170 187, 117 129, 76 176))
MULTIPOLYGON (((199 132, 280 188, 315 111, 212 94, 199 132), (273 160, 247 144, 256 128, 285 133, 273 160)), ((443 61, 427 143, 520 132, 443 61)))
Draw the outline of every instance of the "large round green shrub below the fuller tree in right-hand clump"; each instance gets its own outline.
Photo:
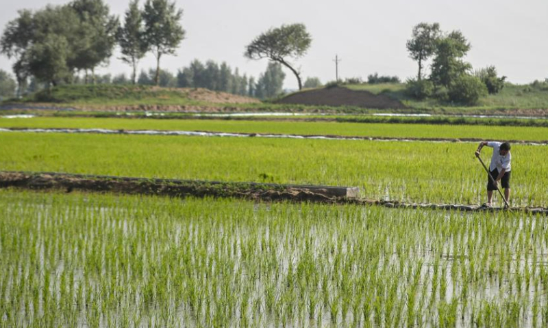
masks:
POLYGON ((447 94, 452 102, 475 105, 480 97, 487 95, 487 87, 478 77, 461 74, 451 81, 447 94))

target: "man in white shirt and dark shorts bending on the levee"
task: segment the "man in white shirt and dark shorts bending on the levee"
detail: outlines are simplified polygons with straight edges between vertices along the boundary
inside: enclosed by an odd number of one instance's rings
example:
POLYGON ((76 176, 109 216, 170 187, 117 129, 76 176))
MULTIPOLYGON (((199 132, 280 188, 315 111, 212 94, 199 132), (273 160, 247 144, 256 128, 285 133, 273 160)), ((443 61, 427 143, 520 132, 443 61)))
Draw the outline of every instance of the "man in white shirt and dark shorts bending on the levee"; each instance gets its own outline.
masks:
POLYGON ((497 141, 482 141, 479 143, 475 156, 479 157, 479 152, 482 151, 484 146, 493 148, 493 156, 491 157, 491 163, 489 165, 489 172, 495 183, 489 177, 487 177, 487 203, 484 206, 491 206, 491 200, 493 200, 493 190, 497 189, 497 184, 501 181, 501 187, 504 188, 504 198, 506 202, 510 202, 510 161, 512 161, 512 154, 510 154, 510 143, 497 142, 497 141))

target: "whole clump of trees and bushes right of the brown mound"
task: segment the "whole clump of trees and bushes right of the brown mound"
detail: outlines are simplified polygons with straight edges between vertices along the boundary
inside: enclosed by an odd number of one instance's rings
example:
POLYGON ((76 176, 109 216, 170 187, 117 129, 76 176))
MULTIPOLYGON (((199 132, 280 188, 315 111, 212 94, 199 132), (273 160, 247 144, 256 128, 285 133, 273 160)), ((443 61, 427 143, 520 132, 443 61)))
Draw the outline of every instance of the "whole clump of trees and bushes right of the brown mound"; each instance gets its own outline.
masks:
POLYGON ((499 92, 506 77, 497 77, 494 66, 473 72, 472 65, 464 61, 470 48, 460 31, 443 32, 438 23, 416 25, 407 49, 419 64, 419 72, 416 79, 407 81, 408 94, 419 99, 433 96, 473 105, 480 97, 499 92), (431 70, 426 77, 425 63, 431 57, 431 70))

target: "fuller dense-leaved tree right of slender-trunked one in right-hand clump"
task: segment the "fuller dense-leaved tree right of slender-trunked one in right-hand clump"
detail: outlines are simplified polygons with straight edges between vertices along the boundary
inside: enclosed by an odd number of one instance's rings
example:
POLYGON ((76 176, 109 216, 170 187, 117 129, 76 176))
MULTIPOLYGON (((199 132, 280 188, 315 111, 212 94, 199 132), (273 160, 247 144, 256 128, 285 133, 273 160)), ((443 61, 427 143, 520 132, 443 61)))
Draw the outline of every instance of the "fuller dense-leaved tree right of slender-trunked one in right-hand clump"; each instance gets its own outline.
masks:
POLYGON ((449 87, 453 79, 469 72, 471 64, 462 60, 469 50, 470 43, 460 31, 452 31, 447 36, 439 38, 432 61, 432 82, 435 85, 449 87))

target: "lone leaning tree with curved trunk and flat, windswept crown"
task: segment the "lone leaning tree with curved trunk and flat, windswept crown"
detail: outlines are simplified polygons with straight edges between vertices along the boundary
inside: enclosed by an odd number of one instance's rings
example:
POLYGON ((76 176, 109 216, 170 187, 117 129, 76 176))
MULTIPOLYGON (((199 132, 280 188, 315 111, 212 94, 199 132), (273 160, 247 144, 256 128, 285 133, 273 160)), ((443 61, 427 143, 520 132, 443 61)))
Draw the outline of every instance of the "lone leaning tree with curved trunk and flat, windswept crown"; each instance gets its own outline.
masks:
POLYGON ((310 47, 312 38, 303 24, 282 25, 275 29, 260 34, 255 38, 245 51, 245 57, 249 59, 269 58, 289 68, 302 89, 300 72, 293 68, 288 58, 297 59, 305 55, 310 47))

